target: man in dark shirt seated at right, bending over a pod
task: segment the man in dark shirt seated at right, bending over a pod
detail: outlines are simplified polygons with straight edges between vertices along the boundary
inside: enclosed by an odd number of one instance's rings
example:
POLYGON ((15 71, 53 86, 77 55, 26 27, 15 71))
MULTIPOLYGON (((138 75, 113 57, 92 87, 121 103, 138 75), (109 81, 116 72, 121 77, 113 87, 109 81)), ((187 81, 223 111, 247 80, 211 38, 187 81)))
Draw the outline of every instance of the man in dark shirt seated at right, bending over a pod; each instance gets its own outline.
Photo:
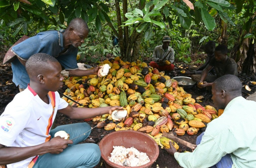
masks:
POLYGON ((237 63, 232 58, 227 56, 227 47, 225 45, 218 45, 215 48, 215 58, 212 58, 209 65, 202 71, 200 80, 198 82, 199 88, 204 88, 213 85, 215 79, 226 74, 237 76, 237 63), (208 72, 215 68, 216 76, 208 75, 208 72))

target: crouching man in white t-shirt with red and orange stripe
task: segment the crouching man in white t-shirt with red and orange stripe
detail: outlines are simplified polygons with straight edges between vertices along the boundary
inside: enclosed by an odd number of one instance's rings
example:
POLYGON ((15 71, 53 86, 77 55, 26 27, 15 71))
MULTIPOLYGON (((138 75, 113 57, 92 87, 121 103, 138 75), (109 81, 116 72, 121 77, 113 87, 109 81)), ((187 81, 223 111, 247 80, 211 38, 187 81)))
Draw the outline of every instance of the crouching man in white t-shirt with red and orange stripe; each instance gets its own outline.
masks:
POLYGON ((0 165, 8 168, 24 167, 94 167, 101 152, 98 145, 83 143, 89 135, 89 124, 51 126, 59 112, 72 119, 85 119, 111 114, 122 107, 74 108, 61 99, 57 90, 64 77, 61 65, 45 53, 32 55, 26 62, 30 84, 17 94, 0 116, 0 165), (66 140, 54 134, 57 131, 70 134, 66 140))

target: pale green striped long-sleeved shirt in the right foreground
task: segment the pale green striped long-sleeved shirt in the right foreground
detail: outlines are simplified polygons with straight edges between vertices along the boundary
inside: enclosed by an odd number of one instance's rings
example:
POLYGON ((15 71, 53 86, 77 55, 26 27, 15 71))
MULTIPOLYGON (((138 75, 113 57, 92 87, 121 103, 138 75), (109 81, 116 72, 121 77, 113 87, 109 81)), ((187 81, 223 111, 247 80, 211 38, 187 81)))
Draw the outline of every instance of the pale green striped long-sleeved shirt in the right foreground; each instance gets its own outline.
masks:
MULTIPOLYGON (((232 87, 232 86, 231 86, 232 87)), ((256 102, 236 97, 223 114, 207 124, 197 148, 174 153, 185 168, 207 168, 230 153, 232 168, 256 168, 256 102)))

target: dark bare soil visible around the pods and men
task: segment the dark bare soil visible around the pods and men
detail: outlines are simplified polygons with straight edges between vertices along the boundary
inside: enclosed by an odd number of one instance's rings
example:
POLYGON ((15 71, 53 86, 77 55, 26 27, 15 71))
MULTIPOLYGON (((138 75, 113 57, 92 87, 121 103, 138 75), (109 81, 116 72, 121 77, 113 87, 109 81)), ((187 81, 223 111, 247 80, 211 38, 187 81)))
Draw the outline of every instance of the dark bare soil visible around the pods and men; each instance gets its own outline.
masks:
MULTIPOLYGON (((5 52, 0 52, 0 115, 2 114, 2 112, 4 111, 6 105, 14 98, 14 96, 19 92, 18 88, 15 86, 14 83, 12 83, 12 71, 11 71, 11 66, 9 64, 2 64, 3 61, 3 56, 5 55, 5 52)), ((192 55, 191 59, 192 60, 197 60, 198 58, 200 58, 201 60, 205 58, 205 55, 192 55)), ((144 60, 145 62, 149 62, 149 60, 147 58, 145 58, 144 60)), ((92 66, 95 66, 96 64, 93 63, 88 63, 92 66)), ((178 63, 181 64, 181 63, 178 63)), ((184 65, 184 64, 183 64, 184 65)), ((200 64, 198 64, 200 65, 200 64)), ((179 69, 175 69, 173 72, 167 74, 169 75, 171 78, 175 77, 175 76, 181 76, 181 74, 179 73, 179 69)), ((249 87, 251 87, 252 91, 248 92, 245 89, 243 89, 243 97, 247 97, 248 94, 253 93, 256 88, 255 86, 251 85, 249 81, 255 81, 256 77, 255 75, 253 76, 247 76, 246 74, 239 74, 239 78, 241 79, 241 81, 243 82, 243 84, 248 84, 249 87)), ((197 96, 204 96, 205 99, 202 103, 203 106, 204 105, 211 105, 214 106, 212 100, 211 100, 211 93, 207 90, 207 89, 199 89, 196 86, 194 86, 192 89, 190 90, 186 90, 188 93, 192 94, 192 98, 196 98, 197 96)), ((56 123, 55 126, 58 125, 63 125, 63 124, 72 124, 72 123, 77 123, 77 122, 84 122, 84 121, 78 121, 78 120, 71 120, 70 118, 63 116, 61 114, 57 114, 56 116, 56 123)), ((92 122, 88 122, 91 127, 94 127, 95 125, 92 124, 92 122)), ((91 135, 89 136, 89 138, 82 143, 96 143, 99 144, 99 142, 101 141, 101 139, 109 134, 110 132, 113 131, 105 131, 104 129, 93 129, 91 132, 91 135)), ((183 135, 183 136, 179 136, 179 138, 188 141, 190 143, 195 144, 196 138, 198 135, 200 135, 201 131, 198 132, 197 135, 183 135)), ((183 145, 180 145, 180 149, 179 152, 183 152, 185 150, 187 151, 191 151, 189 148, 184 147, 183 145)), ((179 168, 179 164, 177 163, 177 161, 175 160, 174 157, 170 156, 165 150, 161 149, 159 147, 159 157, 158 159, 155 161, 155 163, 152 165, 152 168, 179 168)), ((99 164, 95 167, 95 168, 105 168, 104 166, 104 160, 101 159, 101 161, 99 162, 99 164)))

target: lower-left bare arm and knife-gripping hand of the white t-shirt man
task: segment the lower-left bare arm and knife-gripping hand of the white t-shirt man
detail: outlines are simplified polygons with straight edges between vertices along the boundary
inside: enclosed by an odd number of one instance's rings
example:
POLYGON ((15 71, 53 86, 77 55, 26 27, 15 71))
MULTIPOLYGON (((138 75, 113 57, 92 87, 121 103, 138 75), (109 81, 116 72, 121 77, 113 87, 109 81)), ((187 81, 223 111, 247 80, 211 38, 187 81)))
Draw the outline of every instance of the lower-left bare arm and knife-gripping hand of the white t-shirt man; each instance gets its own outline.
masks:
POLYGON ((15 163, 45 153, 58 154, 67 148, 68 144, 72 143, 73 141, 65 140, 58 136, 45 143, 31 147, 6 147, 0 144, 0 165, 15 163))

